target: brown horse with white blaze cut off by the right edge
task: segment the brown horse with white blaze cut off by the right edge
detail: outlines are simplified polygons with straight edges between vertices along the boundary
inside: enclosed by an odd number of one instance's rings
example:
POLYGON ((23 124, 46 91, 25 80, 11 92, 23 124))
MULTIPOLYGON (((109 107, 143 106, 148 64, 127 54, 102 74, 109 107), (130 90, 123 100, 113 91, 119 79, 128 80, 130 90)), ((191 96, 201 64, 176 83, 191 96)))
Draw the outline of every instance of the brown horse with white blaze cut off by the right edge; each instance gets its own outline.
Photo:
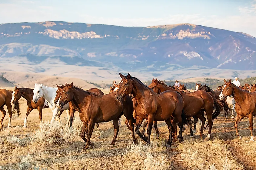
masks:
POLYGON ((238 139, 241 139, 241 136, 239 136, 238 133, 238 123, 241 122, 241 120, 244 117, 249 118, 249 129, 251 131, 251 139, 250 141, 253 141, 253 116, 256 115, 256 93, 251 93, 246 90, 241 90, 236 85, 231 83, 231 79, 229 79, 229 82, 226 82, 224 80, 224 86, 223 90, 220 94, 220 99, 224 99, 230 95, 233 96, 233 98, 236 101, 235 108, 237 112, 236 121, 234 124, 234 128, 236 130, 236 135, 238 139))

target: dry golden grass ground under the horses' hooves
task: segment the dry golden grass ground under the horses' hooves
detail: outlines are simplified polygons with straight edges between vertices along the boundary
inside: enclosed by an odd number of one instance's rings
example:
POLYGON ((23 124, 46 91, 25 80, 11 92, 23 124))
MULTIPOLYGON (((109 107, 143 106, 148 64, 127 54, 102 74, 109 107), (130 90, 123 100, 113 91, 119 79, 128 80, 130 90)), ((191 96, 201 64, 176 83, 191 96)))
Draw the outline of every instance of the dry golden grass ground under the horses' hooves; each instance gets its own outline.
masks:
MULTIPOLYGON (((23 120, 26 113, 26 103, 22 98, 21 118, 12 120, 12 127, 6 130, 8 116, 5 117, 4 129, 0 130, 0 166, 10 166, 18 169, 21 158, 31 155, 32 167, 51 169, 256 169, 256 142, 248 142, 250 131, 248 119, 244 118, 238 125, 243 137, 236 139, 234 120, 225 120, 219 117, 214 121, 211 140, 203 141, 199 133, 191 140, 188 128, 183 136, 184 144, 174 144, 165 148, 164 141, 168 138, 168 130, 164 122, 158 122, 160 138, 153 138, 150 146, 132 144, 130 131, 125 126, 122 117, 117 143, 115 147, 108 147, 111 143, 114 130, 111 122, 99 123, 101 130, 95 130, 91 139, 95 143, 94 149, 81 152, 85 145, 80 137, 72 141, 46 145, 32 142, 33 134, 39 128, 38 111, 33 110, 28 116, 28 128, 23 129, 23 120), (102 134, 101 134, 102 133, 102 134), (9 143, 6 138, 16 136, 22 142, 9 143)), ((75 116, 78 116, 76 112, 75 116)), ((52 111, 43 109, 43 121, 51 120, 52 111)), ((61 121, 65 123, 65 114, 61 121)), ((199 125, 198 130, 199 131, 199 125)), ((254 125, 255 128, 255 125, 254 125)), ((153 129, 152 135, 155 135, 153 129)), ((256 130, 254 130, 256 134, 256 130)), ((204 131, 207 135, 207 131, 204 131)), ((138 136, 136 135, 138 138, 138 136)), ((256 140, 254 138, 254 140, 256 140)), ((22 169, 22 168, 20 168, 22 169)), ((23 168, 25 169, 25 168, 23 168)), ((31 169, 31 168, 30 168, 31 169)))

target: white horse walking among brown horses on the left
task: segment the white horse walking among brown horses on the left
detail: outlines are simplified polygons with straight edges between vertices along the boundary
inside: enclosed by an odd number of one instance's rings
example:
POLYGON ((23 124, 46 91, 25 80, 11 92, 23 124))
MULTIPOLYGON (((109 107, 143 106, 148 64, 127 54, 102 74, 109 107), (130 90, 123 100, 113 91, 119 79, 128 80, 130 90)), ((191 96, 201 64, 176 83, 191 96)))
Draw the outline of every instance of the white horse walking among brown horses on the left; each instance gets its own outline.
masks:
POLYGON ((52 113, 53 113, 51 124, 55 120, 59 111, 66 110, 67 117, 68 117, 68 122, 67 122, 66 126, 68 127, 68 125, 70 123, 69 104, 65 104, 62 109, 58 108, 56 106, 56 104, 54 104, 54 99, 56 97, 56 91, 58 90, 58 88, 43 86, 43 84, 39 85, 39 84, 35 83, 35 88, 33 90, 33 93, 34 93, 33 102, 37 103, 38 99, 41 97, 43 97, 48 102, 48 105, 52 109, 52 113))

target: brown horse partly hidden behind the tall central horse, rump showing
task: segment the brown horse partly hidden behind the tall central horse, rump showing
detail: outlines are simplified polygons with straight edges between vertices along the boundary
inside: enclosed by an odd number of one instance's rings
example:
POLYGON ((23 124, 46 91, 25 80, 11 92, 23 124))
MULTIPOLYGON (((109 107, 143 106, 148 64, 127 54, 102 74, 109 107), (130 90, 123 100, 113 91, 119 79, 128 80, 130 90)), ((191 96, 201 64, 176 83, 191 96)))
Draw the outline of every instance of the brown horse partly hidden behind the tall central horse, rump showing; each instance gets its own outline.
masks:
MULTIPOLYGON (((158 81, 157 79, 155 80, 153 79, 149 87, 151 87, 157 93, 161 93, 166 90, 172 90, 171 87, 169 87, 162 81, 158 81)), ((185 113, 185 116, 187 118, 196 116, 202 121, 201 129, 200 129, 201 138, 203 135, 204 123, 206 120, 206 118, 204 117, 204 111, 205 111, 208 122, 209 122, 208 136, 205 139, 206 140, 209 139, 211 136, 212 120, 221 113, 221 109, 222 109, 221 102, 218 101, 210 92, 205 92, 202 90, 194 91, 192 93, 183 93, 181 91, 178 91, 178 92, 181 93, 184 100, 183 111, 185 113), (213 112, 214 110, 213 105, 216 108, 214 112, 213 112)), ((192 137, 193 131, 191 127, 190 127, 190 134, 192 137)))

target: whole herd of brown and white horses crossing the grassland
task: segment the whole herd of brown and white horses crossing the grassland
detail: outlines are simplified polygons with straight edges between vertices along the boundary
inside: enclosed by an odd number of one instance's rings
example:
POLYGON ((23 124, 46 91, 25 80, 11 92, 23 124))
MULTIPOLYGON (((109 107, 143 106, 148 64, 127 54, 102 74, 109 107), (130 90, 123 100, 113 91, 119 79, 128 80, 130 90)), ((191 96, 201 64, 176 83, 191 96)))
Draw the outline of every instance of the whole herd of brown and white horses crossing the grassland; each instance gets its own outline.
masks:
POLYGON ((200 128, 200 137, 203 138, 203 130, 206 119, 208 120, 208 135, 204 140, 211 137, 211 130, 214 119, 224 109, 225 117, 226 111, 231 110, 231 118, 234 118, 234 109, 237 116, 234 124, 238 139, 241 139, 238 133, 238 123, 244 118, 248 117, 251 130, 251 139, 253 141, 252 124, 253 116, 256 114, 256 90, 255 85, 246 85, 245 90, 240 89, 231 83, 231 80, 224 85, 219 86, 217 90, 212 90, 206 85, 196 84, 196 91, 188 91, 184 85, 174 88, 168 86, 163 81, 153 79, 152 83, 147 87, 139 79, 132 77, 130 74, 122 75, 119 85, 110 88, 110 93, 104 93, 98 88, 91 88, 83 90, 79 86, 65 84, 57 88, 47 87, 43 84, 36 84, 35 88, 17 88, 14 91, 5 89, 0 90, 0 110, 3 117, 6 111, 4 105, 7 106, 9 114, 8 127, 11 125, 12 113, 17 112, 20 116, 20 108, 18 100, 23 97, 27 101, 27 113, 24 119, 24 128, 27 127, 27 117, 33 109, 39 112, 39 119, 42 121, 42 109, 50 107, 53 116, 51 123, 55 119, 59 119, 60 115, 66 110, 68 121, 66 126, 71 127, 75 111, 79 112, 79 117, 83 122, 81 138, 86 145, 82 150, 88 149, 90 146, 94 147, 94 143, 90 142, 93 129, 98 123, 113 121, 114 137, 110 146, 115 145, 116 138, 119 131, 119 123, 121 115, 124 115, 125 124, 131 130, 132 140, 138 144, 135 137, 135 132, 147 144, 150 144, 150 136, 152 126, 154 125, 157 136, 159 131, 157 121, 165 121, 169 130, 169 138, 166 142, 166 147, 170 147, 172 142, 179 140, 184 142, 182 137, 182 129, 184 125, 190 128, 190 135, 193 138, 193 133, 196 130, 197 120, 200 119, 202 124, 200 128), (250 91, 251 92, 250 92, 250 91), (13 107, 13 110, 11 109, 13 107), (205 114, 204 114, 205 113, 205 114), (207 118, 204 117, 206 115, 207 118), (193 120, 191 120, 193 117, 193 120), (146 120, 143 125, 142 133, 140 127, 143 120, 146 120), (194 123, 194 129, 192 129, 194 123), (145 127, 147 126, 147 136, 144 135, 145 127), (177 135, 177 126, 179 126, 179 133, 177 135), (136 127, 136 128, 135 128, 136 127), (87 136, 85 137, 85 134, 87 136), (173 138, 173 139, 172 139, 173 138))

